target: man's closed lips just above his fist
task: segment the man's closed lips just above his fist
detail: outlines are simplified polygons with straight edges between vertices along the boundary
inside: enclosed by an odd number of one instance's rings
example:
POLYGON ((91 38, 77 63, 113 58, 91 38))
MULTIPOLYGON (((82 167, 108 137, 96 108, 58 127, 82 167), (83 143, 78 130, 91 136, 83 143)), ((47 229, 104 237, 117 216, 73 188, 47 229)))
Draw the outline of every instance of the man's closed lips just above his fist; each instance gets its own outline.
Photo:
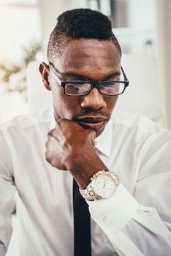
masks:
POLYGON ((78 118, 75 121, 78 124, 80 124, 80 126, 83 128, 97 130, 97 129, 102 129, 102 127, 104 127, 106 118, 88 116, 88 117, 78 118))

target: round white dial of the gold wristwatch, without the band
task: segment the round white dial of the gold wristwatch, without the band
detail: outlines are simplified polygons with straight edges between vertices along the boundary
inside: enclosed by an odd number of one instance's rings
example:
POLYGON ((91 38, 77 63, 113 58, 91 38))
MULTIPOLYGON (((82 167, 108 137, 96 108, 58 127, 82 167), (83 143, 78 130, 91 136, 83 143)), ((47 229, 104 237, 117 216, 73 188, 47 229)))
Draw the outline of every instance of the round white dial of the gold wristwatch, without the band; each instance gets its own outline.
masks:
POLYGON ((114 179, 105 173, 94 179, 92 187, 100 197, 110 197, 110 195, 113 195, 116 185, 114 179))

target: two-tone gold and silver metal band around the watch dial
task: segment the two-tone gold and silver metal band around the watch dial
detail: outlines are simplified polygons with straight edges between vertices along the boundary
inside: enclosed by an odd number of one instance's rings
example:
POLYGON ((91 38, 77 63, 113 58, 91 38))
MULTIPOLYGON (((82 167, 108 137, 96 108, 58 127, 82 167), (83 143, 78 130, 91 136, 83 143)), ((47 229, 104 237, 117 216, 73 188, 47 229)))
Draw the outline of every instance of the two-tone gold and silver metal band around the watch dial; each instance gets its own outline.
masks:
POLYGON ((97 199, 101 199, 103 197, 100 197, 99 195, 97 195, 93 188, 92 188, 92 181, 99 175, 107 173, 108 175, 110 174, 110 176, 112 176, 113 180, 115 181, 115 186, 117 187, 119 184, 119 178, 118 175, 115 172, 110 172, 110 171, 105 171, 105 170, 99 170, 97 173, 94 173, 94 176, 91 177, 91 183, 88 184, 88 186, 86 187, 86 189, 79 189, 80 190, 80 194, 86 199, 86 200, 97 200, 97 199))

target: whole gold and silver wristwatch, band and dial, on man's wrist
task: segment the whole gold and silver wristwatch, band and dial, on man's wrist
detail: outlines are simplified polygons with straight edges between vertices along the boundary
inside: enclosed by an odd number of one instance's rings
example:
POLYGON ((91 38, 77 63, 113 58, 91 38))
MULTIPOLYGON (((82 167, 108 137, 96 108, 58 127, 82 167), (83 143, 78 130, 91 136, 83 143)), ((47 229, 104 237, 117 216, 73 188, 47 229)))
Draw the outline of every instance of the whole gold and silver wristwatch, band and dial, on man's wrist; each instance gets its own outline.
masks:
POLYGON ((110 197, 119 184, 118 175, 114 172, 99 170, 91 178, 86 189, 80 189, 80 194, 86 200, 97 200, 110 197))

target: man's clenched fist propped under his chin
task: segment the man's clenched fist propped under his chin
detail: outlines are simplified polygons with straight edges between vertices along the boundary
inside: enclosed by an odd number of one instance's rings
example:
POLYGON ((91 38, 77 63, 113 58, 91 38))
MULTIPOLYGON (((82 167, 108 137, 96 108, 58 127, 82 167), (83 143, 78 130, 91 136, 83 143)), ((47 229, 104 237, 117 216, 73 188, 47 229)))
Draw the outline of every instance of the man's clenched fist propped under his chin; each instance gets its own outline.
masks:
POLYGON ((71 163, 94 149, 96 133, 83 129, 79 124, 67 119, 60 119, 56 127, 47 134, 47 162, 61 170, 69 170, 71 163))

